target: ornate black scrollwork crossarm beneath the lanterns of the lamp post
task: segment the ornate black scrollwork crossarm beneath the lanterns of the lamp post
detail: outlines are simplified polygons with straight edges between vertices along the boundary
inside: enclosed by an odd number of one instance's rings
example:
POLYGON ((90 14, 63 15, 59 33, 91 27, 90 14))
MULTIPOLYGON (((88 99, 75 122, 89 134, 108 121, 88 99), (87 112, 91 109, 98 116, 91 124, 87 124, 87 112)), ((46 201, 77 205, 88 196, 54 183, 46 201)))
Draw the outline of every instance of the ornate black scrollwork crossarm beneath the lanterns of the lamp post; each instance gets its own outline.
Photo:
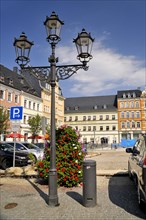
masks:
MULTIPOLYGON (((74 73, 77 73, 79 69, 84 69, 85 71, 88 70, 87 65, 61 65, 56 66, 56 81, 65 80, 70 78, 74 73)), ((23 67, 22 72, 29 72, 34 77, 36 77, 40 81, 51 81, 51 66, 27 66, 23 67)))

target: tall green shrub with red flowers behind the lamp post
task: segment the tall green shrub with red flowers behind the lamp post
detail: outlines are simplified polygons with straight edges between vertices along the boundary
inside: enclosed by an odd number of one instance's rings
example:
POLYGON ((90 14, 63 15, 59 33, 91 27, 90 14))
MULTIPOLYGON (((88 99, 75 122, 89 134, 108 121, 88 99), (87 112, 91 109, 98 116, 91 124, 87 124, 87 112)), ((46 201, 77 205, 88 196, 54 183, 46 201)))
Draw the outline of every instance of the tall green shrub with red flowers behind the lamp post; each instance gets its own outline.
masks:
MULTIPOLYGON (((50 149, 46 148, 44 159, 38 161, 39 176, 47 179, 50 168, 50 149)), ((80 134, 70 126, 61 126, 56 131, 56 169, 58 185, 77 186, 82 178, 84 153, 80 143, 80 134)))

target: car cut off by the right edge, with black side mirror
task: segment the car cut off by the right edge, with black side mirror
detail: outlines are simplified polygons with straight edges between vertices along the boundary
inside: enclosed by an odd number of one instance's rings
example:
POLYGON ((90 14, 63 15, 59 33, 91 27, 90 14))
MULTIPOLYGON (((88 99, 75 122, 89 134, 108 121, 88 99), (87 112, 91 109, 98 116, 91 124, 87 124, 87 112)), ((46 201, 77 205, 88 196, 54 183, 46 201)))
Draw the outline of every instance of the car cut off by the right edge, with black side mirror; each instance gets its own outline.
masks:
POLYGON ((146 207, 146 136, 141 136, 133 148, 127 148, 131 153, 128 160, 129 177, 137 187, 138 203, 141 208, 146 207))

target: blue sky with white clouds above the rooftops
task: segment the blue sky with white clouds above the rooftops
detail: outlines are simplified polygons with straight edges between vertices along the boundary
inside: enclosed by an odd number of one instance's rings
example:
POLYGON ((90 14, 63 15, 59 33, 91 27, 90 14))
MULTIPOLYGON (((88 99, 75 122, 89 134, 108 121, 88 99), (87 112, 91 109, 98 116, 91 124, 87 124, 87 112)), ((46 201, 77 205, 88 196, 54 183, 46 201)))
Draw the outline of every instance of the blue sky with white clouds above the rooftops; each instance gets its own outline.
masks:
POLYGON ((64 97, 116 94, 146 85, 145 0, 1 0, 1 64, 13 69, 14 37, 34 41, 32 66, 49 65, 43 22, 52 11, 64 21, 58 65, 78 64, 73 38, 85 28, 95 38, 89 70, 60 81, 64 97))

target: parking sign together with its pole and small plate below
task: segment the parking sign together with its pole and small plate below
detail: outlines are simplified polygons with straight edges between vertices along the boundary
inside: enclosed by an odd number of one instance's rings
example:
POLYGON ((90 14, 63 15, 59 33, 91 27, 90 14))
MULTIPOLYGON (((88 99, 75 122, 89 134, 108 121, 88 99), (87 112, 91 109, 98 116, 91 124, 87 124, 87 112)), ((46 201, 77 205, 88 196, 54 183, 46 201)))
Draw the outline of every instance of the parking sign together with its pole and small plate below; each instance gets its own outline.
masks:
POLYGON ((13 167, 15 167, 15 151, 16 151, 16 132, 19 131, 20 123, 18 120, 23 118, 23 107, 13 106, 10 108, 10 120, 12 121, 12 131, 14 132, 14 151, 13 151, 13 167))

